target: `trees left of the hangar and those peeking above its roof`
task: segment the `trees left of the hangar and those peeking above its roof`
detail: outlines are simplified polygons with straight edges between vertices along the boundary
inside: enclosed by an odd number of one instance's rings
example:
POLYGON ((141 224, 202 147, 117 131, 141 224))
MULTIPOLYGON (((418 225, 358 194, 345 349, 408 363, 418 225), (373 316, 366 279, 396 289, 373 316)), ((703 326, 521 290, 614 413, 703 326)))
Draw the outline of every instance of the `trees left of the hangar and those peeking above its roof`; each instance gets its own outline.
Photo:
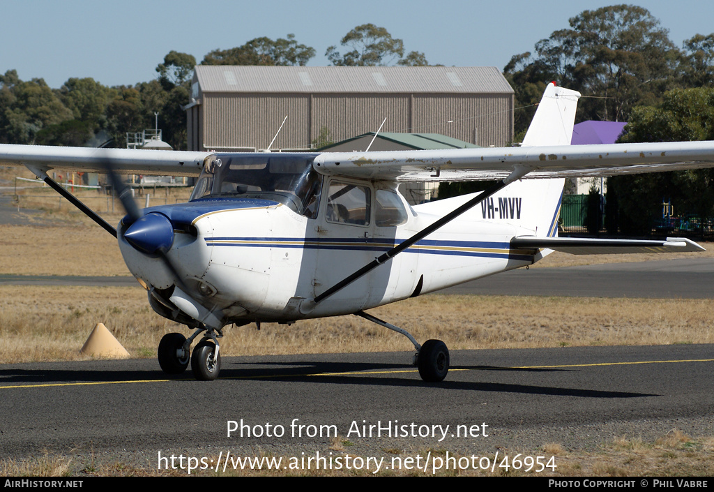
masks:
MULTIPOLYGON (((374 24, 356 26, 326 56, 336 66, 428 65, 418 51, 406 53, 401 39, 374 24)), ((242 46, 215 49, 203 65, 305 65, 315 56, 293 34, 251 39, 242 46)), ((196 59, 171 51, 156 67, 157 77, 133 86, 106 87, 91 78, 71 78, 59 89, 44 79, 23 81, 16 70, 0 75, 0 143, 82 146, 107 141, 124 147, 127 132, 154 127, 154 112, 174 149, 186 149, 186 112, 196 59)))

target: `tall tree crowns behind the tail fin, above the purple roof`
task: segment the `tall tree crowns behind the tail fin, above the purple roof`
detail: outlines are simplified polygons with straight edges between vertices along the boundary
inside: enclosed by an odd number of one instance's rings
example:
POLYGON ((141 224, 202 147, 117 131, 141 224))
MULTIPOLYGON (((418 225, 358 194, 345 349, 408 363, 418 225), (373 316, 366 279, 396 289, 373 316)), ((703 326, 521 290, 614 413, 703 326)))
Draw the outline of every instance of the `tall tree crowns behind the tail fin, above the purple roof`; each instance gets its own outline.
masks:
POLYGON ((616 5, 586 10, 535 49, 516 54, 503 74, 516 92, 516 133, 525 133, 551 80, 583 94, 578 121, 628 122, 635 107, 656 107, 673 89, 711 87, 714 33, 678 48, 647 9, 616 5))

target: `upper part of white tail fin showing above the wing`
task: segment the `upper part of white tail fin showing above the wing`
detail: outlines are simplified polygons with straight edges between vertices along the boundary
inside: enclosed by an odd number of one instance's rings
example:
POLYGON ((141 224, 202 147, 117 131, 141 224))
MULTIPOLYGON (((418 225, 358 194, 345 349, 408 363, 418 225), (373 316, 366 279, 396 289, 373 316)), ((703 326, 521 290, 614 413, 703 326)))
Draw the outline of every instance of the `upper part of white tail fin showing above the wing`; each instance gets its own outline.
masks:
POLYGON ((580 92, 550 82, 528 127, 523 145, 570 145, 580 92))

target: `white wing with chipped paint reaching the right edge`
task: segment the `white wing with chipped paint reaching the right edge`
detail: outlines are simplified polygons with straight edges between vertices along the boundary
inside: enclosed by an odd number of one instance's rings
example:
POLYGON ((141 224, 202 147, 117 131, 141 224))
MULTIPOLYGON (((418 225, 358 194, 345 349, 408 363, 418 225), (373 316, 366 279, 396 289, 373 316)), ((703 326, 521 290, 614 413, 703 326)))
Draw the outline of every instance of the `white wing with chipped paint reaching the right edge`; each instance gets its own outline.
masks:
POLYGON ((396 181, 503 179, 518 168, 526 178, 612 176, 714 167, 714 142, 333 152, 315 162, 323 174, 396 181))

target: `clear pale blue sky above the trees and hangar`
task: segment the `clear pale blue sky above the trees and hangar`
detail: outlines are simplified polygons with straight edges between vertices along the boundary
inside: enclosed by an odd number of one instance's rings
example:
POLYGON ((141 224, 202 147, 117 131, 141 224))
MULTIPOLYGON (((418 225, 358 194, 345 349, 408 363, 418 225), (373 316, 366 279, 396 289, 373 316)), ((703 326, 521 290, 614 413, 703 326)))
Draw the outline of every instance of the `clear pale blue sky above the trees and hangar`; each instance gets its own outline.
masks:
MULTIPOLYGON (((421 51, 431 64, 503 69, 511 56, 533 51, 540 39, 568 27, 568 19, 613 1, 545 0, 0 0, 0 73, 44 78, 59 88, 70 77, 107 86, 156 78, 171 50, 200 63, 213 49, 241 46, 256 37, 295 34, 315 48, 308 65, 326 66, 328 46, 360 24, 376 24, 421 51)), ((714 31, 714 2, 635 2, 660 19, 682 46, 714 31)))

